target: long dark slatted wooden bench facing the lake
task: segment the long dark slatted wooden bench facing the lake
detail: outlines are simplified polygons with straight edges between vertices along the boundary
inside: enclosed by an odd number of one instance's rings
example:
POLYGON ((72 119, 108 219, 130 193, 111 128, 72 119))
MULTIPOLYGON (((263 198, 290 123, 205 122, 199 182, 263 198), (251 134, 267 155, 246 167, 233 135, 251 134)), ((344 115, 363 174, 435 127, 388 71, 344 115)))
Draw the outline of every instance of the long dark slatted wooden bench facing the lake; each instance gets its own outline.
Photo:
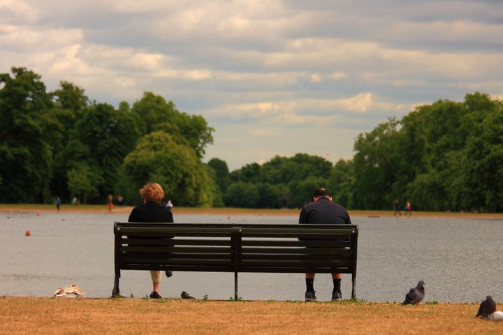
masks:
POLYGON ((351 274, 356 298, 358 225, 254 223, 114 224, 115 283, 121 270, 351 274))

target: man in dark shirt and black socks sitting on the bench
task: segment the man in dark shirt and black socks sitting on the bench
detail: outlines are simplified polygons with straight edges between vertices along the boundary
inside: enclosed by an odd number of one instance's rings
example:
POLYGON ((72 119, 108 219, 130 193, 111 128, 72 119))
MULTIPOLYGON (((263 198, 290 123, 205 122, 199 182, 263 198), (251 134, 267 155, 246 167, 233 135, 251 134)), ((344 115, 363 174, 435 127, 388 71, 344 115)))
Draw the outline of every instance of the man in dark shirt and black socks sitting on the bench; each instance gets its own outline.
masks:
MULTIPOLYGON (((299 216, 299 223, 319 223, 333 225, 351 225, 351 218, 347 210, 340 204, 332 202, 332 195, 326 188, 318 188, 313 193, 313 200, 309 204, 302 207, 299 216)), ((316 295, 314 291, 314 276, 316 274, 305 274, 306 292, 305 300, 314 301, 316 295)), ((342 274, 332 274, 333 291, 332 301, 342 300, 341 280, 342 274)))

